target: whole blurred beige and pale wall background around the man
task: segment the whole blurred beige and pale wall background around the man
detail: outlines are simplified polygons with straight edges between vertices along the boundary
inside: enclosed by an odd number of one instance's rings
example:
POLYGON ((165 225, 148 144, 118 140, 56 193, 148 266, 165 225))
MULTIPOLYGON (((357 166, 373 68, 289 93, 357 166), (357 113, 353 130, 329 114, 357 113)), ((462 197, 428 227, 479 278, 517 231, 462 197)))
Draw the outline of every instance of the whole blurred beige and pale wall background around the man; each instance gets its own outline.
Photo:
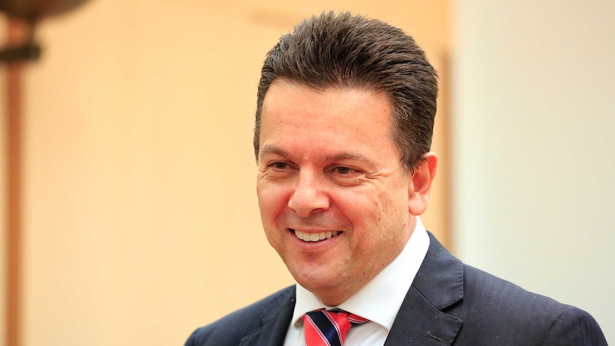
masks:
POLYGON ((39 24, 22 70, 1 346, 183 345, 293 283, 260 225, 256 85, 280 35, 330 9, 405 29, 440 71, 427 229, 615 342, 613 1, 91 0, 39 24))

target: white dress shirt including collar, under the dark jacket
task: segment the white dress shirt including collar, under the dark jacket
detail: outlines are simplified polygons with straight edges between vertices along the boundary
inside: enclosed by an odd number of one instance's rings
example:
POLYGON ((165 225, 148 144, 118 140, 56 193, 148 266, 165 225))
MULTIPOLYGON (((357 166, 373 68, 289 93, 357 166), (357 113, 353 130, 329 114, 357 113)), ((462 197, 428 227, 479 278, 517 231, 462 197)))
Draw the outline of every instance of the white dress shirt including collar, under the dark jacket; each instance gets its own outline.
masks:
MULTIPOLYGON (((367 318, 370 322, 350 328, 344 346, 382 346, 402 306, 404 297, 415 280, 430 238, 417 217, 417 225, 400 255, 382 269, 367 285, 338 305, 342 310, 367 318)), ((301 285, 297 284, 297 302, 284 346, 305 346, 303 320, 305 312, 330 308, 301 285)))

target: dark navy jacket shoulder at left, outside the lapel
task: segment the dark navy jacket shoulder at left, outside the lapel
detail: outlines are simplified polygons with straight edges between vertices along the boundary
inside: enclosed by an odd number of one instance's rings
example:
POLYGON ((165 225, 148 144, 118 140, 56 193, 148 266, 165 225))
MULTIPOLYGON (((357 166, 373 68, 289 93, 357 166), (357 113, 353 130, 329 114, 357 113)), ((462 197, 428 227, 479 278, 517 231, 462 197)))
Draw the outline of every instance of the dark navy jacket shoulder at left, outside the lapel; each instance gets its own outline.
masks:
POLYGON ((280 317, 280 314, 289 307, 290 321, 294 305, 295 285, 232 312, 210 325, 198 328, 190 335, 185 346, 240 345, 243 337, 280 317))

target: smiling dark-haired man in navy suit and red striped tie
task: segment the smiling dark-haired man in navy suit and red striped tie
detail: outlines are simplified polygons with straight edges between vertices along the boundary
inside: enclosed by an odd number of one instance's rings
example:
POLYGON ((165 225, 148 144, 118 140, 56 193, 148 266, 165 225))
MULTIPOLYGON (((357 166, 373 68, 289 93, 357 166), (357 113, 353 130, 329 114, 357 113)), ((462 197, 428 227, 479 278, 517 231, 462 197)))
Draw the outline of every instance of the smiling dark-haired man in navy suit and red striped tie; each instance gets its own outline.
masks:
POLYGON ((381 21, 322 14, 283 36, 254 148, 263 228, 297 285, 186 345, 606 345, 586 312, 464 265, 427 233, 436 98, 424 52, 381 21))

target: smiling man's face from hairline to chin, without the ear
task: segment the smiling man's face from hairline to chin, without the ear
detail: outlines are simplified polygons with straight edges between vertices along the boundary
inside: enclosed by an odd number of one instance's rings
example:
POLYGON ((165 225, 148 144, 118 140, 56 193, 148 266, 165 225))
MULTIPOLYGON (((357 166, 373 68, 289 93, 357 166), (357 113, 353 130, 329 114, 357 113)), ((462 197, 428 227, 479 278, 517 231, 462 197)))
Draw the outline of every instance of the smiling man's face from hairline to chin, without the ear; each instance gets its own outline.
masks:
POLYGON ((276 80, 263 103, 263 228, 295 280, 326 305, 360 290, 415 226, 412 175, 390 140, 387 96, 276 80), (316 240, 316 241, 315 241, 316 240))

